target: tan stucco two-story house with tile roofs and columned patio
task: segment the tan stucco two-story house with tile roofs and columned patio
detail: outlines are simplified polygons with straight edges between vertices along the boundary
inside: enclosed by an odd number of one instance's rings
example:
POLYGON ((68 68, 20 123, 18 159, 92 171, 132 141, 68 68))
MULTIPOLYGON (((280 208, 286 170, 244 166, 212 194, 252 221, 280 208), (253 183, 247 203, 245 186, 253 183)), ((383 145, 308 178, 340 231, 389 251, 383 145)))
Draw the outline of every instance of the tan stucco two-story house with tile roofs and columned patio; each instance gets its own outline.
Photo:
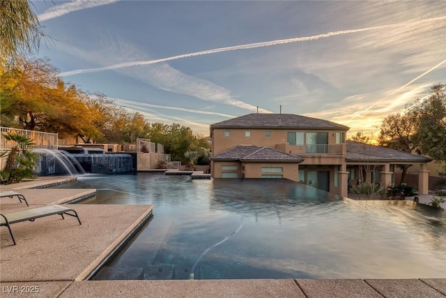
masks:
POLYGON ((347 126, 295 114, 247 114, 210 126, 213 178, 285 178, 347 196, 348 184, 393 182, 399 164, 420 164, 427 193, 431 158, 346 141, 347 126))

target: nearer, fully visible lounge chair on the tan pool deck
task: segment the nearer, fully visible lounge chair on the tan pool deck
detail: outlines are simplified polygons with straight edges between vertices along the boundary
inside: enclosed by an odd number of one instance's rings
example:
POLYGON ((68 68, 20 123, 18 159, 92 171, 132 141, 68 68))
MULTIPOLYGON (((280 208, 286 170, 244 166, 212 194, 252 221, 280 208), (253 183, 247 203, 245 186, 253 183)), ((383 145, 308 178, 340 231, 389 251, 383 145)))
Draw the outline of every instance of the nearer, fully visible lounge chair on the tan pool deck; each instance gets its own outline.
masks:
POLYGON ((15 245, 16 243, 10 225, 12 225, 13 223, 20 223, 22 221, 34 221, 36 218, 55 214, 59 214, 60 216, 62 216, 63 219, 65 219, 63 217, 63 214, 74 216, 75 218, 77 218, 77 221, 79 221, 79 225, 82 225, 81 220, 79 219, 79 216, 77 216, 77 212, 75 210, 59 205, 49 205, 44 207, 11 212, 8 214, 0 214, 0 226, 6 225, 15 245), (68 212, 72 212, 72 214, 68 212))

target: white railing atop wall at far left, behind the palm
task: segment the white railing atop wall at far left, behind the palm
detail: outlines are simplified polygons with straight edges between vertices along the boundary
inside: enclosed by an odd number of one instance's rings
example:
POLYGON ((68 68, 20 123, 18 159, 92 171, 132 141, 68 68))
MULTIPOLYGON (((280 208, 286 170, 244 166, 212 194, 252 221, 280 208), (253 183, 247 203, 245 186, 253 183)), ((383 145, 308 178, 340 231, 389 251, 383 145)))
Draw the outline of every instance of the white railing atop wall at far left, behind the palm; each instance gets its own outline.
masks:
POLYGON ((45 133, 43 131, 26 131, 25 129, 0 127, 0 149, 11 149, 15 142, 8 141, 4 137, 6 133, 18 133, 26 135, 32 140, 33 145, 26 149, 49 149, 57 150, 59 139, 57 133, 45 133))

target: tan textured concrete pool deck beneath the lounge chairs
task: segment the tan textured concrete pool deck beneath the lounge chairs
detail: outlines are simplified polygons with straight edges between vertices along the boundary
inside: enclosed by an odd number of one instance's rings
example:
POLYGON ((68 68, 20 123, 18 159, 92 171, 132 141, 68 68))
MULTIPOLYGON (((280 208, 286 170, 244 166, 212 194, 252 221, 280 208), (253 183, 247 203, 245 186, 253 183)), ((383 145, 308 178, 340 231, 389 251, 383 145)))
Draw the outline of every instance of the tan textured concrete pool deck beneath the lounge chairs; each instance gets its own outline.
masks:
MULTIPOLYGON (((1 186, 2 214, 46 204, 66 204, 95 189, 48 189, 73 177, 43 177, 1 186), (30 189, 33 188, 33 189, 30 189)), ((185 281, 86 281, 103 260, 151 216, 151 205, 70 204, 81 218, 59 216, 0 228, 0 297, 446 297, 445 278, 247 279, 185 281)), ((156 206, 154 207, 156 213, 156 206)))

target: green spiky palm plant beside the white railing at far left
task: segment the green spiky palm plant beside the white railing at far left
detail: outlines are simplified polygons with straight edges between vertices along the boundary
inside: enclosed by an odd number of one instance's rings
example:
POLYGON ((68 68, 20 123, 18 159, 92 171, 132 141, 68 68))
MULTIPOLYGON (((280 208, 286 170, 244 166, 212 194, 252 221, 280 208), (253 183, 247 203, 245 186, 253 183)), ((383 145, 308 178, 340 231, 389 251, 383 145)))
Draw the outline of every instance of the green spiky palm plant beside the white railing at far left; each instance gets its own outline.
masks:
POLYGON ((1 180, 6 184, 13 184, 25 178, 33 178, 38 158, 38 154, 29 151, 29 148, 33 146, 33 140, 20 133, 6 133, 3 137, 15 142, 15 146, 1 155, 8 155, 5 166, 0 171, 1 180))

